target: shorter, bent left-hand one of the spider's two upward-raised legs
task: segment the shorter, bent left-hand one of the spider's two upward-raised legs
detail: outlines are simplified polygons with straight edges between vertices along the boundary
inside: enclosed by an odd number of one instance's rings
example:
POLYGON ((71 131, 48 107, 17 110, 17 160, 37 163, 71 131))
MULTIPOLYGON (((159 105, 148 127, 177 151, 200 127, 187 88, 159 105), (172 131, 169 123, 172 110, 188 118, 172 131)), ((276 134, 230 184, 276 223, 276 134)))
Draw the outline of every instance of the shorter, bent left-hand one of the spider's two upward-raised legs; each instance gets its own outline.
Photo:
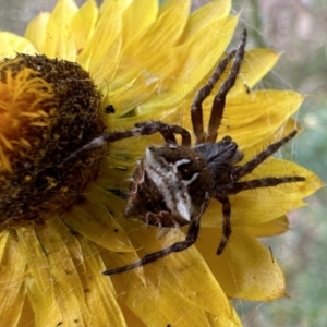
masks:
POLYGON ((203 101, 213 92, 217 81, 221 76, 229 61, 234 57, 235 51, 230 52, 223 60, 221 60, 218 66, 215 69, 213 75, 208 82, 196 93, 194 100, 191 106, 191 119, 192 126, 195 135, 195 144, 205 142, 206 135, 203 126, 203 101))

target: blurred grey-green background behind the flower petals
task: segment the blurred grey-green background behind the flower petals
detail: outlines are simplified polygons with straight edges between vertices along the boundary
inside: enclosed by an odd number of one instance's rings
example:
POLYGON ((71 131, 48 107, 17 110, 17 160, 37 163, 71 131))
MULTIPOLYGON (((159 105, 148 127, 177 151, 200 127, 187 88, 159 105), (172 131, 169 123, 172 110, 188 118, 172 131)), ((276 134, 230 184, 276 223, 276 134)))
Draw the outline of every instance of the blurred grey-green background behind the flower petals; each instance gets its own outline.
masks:
MULTIPOLYGON (((23 35, 27 22, 41 10, 52 10, 56 2, 0 0, 0 29, 23 35)), ((196 8, 206 1, 193 2, 196 8)), ((259 86, 310 95, 295 117, 303 133, 284 156, 327 183, 327 1, 234 0, 233 12, 241 13, 237 35, 247 28, 247 48, 269 47, 283 53, 259 86)), ((327 190, 307 203, 290 214, 288 233, 264 240, 286 272, 289 299, 234 301, 244 326, 327 326, 327 190)))

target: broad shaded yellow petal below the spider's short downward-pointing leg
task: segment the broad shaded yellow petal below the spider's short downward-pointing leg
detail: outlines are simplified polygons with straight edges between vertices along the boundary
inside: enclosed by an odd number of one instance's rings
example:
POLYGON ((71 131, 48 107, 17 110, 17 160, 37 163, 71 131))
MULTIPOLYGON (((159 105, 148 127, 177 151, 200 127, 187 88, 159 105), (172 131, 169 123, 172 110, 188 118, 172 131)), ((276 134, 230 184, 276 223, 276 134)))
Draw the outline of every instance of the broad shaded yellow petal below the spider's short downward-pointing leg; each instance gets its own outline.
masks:
POLYGON ((217 229, 202 231, 196 247, 206 259, 225 292, 232 298, 267 301, 284 296, 284 277, 268 249, 244 228, 234 228, 221 255, 217 229))

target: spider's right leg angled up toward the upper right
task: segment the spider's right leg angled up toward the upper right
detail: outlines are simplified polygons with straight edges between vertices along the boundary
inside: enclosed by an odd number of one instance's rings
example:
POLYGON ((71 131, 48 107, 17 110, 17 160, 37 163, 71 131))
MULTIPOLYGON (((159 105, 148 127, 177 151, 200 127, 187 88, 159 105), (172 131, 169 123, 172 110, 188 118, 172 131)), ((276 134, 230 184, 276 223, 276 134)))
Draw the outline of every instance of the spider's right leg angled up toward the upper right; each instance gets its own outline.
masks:
POLYGON ((247 161, 243 166, 235 167, 231 170, 231 177, 233 181, 238 181, 240 178, 244 177, 245 174, 251 173, 257 166, 259 166, 264 160, 270 157, 274 153, 276 153, 281 146, 288 143, 296 135, 296 131, 291 132, 286 137, 281 138, 280 141, 270 144, 267 148, 263 152, 257 154, 252 160, 247 161))

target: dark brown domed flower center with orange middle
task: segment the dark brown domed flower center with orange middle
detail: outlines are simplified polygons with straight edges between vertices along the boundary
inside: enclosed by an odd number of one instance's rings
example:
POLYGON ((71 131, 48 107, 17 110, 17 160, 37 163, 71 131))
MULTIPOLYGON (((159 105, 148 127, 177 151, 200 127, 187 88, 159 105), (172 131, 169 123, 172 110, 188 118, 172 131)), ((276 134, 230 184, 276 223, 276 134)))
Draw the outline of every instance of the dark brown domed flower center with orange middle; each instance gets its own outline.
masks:
POLYGON ((78 64, 19 55, 0 63, 0 223, 61 214, 99 170, 106 149, 63 160, 104 133, 101 96, 78 64))

